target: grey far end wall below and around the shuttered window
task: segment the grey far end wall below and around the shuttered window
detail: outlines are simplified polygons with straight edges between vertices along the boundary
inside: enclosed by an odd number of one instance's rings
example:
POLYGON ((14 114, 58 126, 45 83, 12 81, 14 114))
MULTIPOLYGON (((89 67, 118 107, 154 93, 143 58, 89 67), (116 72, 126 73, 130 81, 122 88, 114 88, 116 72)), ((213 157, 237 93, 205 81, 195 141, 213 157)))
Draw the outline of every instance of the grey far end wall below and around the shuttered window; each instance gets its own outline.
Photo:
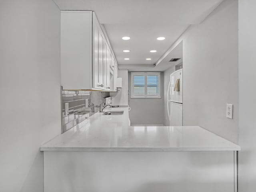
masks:
MULTIPOLYGON (((131 72, 129 72, 129 90, 131 90, 131 72)), ((129 94, 129 118, 131 125, 163 125, 164 124, 164 78, 161 72, 161 98, 136 99, 129 94)), ((129 91, 131 92, 131 91, 129 91)))

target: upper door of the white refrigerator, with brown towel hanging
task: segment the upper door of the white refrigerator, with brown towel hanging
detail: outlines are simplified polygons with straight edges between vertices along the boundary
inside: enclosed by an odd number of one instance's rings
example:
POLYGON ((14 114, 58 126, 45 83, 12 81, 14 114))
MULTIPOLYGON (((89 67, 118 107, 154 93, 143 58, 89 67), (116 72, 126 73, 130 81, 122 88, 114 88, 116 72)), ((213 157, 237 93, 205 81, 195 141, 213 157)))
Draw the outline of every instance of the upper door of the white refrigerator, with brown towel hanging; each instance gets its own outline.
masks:
POLYGON ((182 69, 173 72, 170 74, 170 87, 168 89, 168 100, 171 100, 172 102, 178 102, 182 103, 182 69), (180 91, 174 90, 175 84, 177 80, 180 79, 180 91))

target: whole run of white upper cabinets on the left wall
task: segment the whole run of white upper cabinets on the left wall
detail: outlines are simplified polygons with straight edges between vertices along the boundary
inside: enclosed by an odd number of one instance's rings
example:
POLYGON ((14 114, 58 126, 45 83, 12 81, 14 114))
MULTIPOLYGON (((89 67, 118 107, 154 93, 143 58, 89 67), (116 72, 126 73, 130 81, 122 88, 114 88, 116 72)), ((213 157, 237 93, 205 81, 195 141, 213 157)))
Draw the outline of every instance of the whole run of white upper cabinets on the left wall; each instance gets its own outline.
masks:
MULTIPOLYGON (((64 90, 115 91, 116 59, 92 11, 61 11, 61 83, 64 90)), ((117 68, 117 66, 116 66, 117 68)))

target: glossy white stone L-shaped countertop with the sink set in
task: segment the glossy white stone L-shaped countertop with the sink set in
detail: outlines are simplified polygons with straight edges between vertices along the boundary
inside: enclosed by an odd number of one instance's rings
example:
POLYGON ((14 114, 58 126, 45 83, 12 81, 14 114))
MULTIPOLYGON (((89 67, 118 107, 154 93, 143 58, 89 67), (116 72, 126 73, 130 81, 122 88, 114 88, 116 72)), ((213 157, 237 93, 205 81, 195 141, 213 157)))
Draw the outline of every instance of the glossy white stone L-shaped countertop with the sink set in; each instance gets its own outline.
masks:
POLYGON ((199 126, 130 126, 123 115, 96 113, 40 147, 40 151, 239 151, 240 146, 199 126))

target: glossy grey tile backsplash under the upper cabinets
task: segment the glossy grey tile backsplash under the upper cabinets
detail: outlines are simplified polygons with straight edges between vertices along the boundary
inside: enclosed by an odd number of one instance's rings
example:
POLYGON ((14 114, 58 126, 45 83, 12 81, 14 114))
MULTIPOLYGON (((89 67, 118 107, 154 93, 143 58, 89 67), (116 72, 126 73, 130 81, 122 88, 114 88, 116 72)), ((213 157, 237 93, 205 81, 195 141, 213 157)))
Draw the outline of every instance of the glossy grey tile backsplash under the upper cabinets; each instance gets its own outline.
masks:
POLYGON ((97 113, 109 92, 62 90, 62 133, 97 113))

